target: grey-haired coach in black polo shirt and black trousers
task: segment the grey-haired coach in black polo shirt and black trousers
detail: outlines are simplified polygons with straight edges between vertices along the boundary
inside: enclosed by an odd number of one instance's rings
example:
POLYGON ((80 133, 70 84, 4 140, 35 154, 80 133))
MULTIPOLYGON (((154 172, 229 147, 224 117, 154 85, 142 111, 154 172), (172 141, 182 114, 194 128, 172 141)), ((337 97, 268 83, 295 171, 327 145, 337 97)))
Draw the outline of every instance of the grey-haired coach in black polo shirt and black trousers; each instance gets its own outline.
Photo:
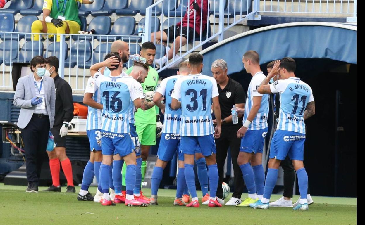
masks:
MULTIPOLYGON (((237 131, 242 127, 242 115, 238 116, 238 124, 232 123, 231 109, 235 105, 239 108, 245 107, 245 91, 242 85, 227 75, 227 63, 223 59, 217 59, 212 64, 212 74, 218 85, 220 113, 222 115, 222 132, 215 140, 217 153, 216 161, 218 166, 218 188, 216 196, 223 198, 222 182, 224 175, 224 162, 227 157, 228 147, 231 149, 231 158, 234 171, 234 193, 226 205, 238 205, 241 203, 243 191, 243 177, 241 169, 237 164, 241 139, 237 138, 237 131)), ((215 124, 216 121, 213 120, 215 124)))

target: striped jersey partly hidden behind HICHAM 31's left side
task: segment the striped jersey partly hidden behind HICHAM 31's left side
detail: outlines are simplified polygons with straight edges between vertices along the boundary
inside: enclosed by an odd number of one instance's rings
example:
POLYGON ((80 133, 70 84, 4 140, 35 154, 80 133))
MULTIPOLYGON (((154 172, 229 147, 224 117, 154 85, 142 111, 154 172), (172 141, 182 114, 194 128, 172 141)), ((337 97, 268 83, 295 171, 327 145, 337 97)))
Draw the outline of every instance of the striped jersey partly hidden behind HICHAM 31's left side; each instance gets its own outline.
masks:
POLYGON ((181 108, 176 110, 171 109, 171 94, 177 79, 182 77, 184 76, 174 75, 163 79, 160 87, 156 91, 162 94, 162 96, 165 96, 165 115, 162 133, 180 133, 181 108))

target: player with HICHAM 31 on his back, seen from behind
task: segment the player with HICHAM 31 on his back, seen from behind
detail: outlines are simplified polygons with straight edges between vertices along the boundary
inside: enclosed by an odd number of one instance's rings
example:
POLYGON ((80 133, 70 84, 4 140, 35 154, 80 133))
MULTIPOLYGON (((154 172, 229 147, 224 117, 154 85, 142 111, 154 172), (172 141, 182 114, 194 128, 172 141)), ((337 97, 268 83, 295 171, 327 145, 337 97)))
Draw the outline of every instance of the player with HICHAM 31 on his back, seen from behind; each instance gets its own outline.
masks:
POLYGON ((215 160, 216 147, 214 138, 220 136, 220 107, 218 101, 217 83, 213 77, 201 74, 203 69, 203 55, 192 53, 189 55, 188 76, 177 79, 171 94, 171 109, 181 108, 181 149, 184 153, 185 180, 192 196, 187 207, 199 207, 195 188, 195 174, 193 170, 195 149, 200 147, 208 165, 210 184, 209 207, 222 207, 216 200, 218 186, 218 168, 215 160), (211 105, 217 119, 214 128, 211 116, 211 105), (213 135, 213 133, 215 133, 213 135))

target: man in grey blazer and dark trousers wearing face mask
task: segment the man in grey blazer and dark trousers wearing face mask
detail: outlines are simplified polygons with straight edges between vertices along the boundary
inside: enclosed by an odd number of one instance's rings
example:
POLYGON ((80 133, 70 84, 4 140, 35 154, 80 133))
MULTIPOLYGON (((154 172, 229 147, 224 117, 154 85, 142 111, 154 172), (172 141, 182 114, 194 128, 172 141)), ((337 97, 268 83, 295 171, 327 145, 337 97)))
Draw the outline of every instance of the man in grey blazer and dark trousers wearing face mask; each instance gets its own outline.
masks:
POLYGON ((49 131, 54 123, 55 88, 46 60, 36 56, 30 61, 32 74, 19 78, 14 105, 20 107, 18 127, 22 131, 27 166, 27 192, 38 192, 41 166, 49 131), (47 73, 48 72, 48 73, 47 73))

